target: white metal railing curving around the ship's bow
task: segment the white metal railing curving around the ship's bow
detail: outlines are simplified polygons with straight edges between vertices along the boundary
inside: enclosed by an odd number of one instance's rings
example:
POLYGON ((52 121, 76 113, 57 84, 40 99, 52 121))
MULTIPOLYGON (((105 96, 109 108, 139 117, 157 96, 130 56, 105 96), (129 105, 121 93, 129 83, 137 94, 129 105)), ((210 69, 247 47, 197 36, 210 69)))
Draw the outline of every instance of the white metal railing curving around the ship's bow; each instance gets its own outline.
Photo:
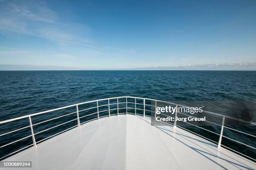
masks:
MULTIPOLYGON (((54 136, 56 136, 56 135, 59 135, 60 133, 66 132, 67 130, 70 130, 70 129, 72 129, 72 128, 80 127, 82 124, 84 124, 84 123, 86 123, 86 122, 89 122, 89 121, 92 121, 92 120, 96 120, 96 119, 99 120, 101 117, 106 117, 106 116, 109 116, 109 117, 110 117, 110 115, 120 115, 120 114, 135 114, 135 115, 143 115, 143 117, 149 116, 149 117, 153 117, 154 119, 156 119, 156 108, 158 107, 158 106, 157 106, 157 102, 161 102, 161 103, 164 103, 164 104, 175 105, 176 107, 178 107, 178 106, 179 106, 179 107, 187 107, 187 106, 184 106, 184 105, 179 105, 179 104, 176 104, 176 103, 173 103, 173 102, 166 102, 166 101, 162 101, 162 100, 154 100, 154 99, 142 98, 142 97, 123 96, 123 97, 111 97, 111 98, 105 98, 105 99, 100 99, 100 100, 92 100, 92 101, 88 101, 88 102, 82 102, 82 103, 78 103, 78 104, 74 104, 74 105, 69 105, 69 106, 65 106, 65 107, 59 107, 59 108, 52 109, 52 110, 47 110, 47 111, 44 111, 44 112, 38 112, 38 113, 31 114, 31 115, 25 115, 25 116, 16 117, 16 118, 13 118, 13 119, 1 121, 1 122, 0 122, 0 125, 1 125, 1 124, 5 124, 5 123, 8 123, 8 122, 13 122, 13 121, 15 121, 15 120, 21 120, 21 119, 28 118, 29 126, 25 126, 25 127, 23 127, 23 128, 19 128, 19 129, 16 129, 16 130, 13 130, 13 131, 10 131, 10 132, 7 132, 7 133, 0 134, 0 138, 1 138, 2 136, 4 136, 4 135, 8 135, 8 134, 10 134, 10 133, 18 132, 19 130, 23 130, 23 129, 26 129, 26 128, 29 128, 29 127, 30 127, 30 130, 31 130, 31 135, 28 135, 28 136, 26 136, 26 137, 24 137, 24 138, 21 138, 21 139, 15 140, 15 141, 13 141, 13 142, 7 143, 7 144, 5 144, 5 145, 2 145, 2 146, 0 146, 0 149, 1 149, 1 148, 4 148, 4 147, 7 147, 8 145, 11 145, 11 144, 13 144, 13 143, 17 143, 17 142, 19 142, 19 141, 21 141, 21 140, 24 140, 24 139, 26 139, 26 138, 30 138, 30 137, 32 138, 33 144, 28 145, 28 146, 26 146, 26 147, 24 147, 24 148, 18 149, 18 150, 16 150, 15 152, 8 153, 8 154, 6 154, 5 156, 3 156, 2 158, 0 158, 0 160, 3 160, 4 158, 7 158, 7 157, 10 156, 10 155, 13 155, 13 154, 15 154, 15 153, 18 153, 19 151, 24 150, 24 149, 26 149, 26 148, 28 148, 28 147, 31 147, 32 145, 33 145, 34 147, 37 147, 36 145, 37 145, 38 143, 43 142, 44 140, 47 140, 47 139, 49 139, 49 138, 52 138, 52 137, 54 137, 54 136), (125 102, 120 102, 120 99, 125 99, 125 102), (128 99, 134 99, 134 102, 128 102, 128 99), (116 102, 110 103, 110 100, 116 100, 116 102), (138 102, 138 100, 142 100, 143 103, 138 102), (107 101, 108 104, 99 105, 99 102, 101 102, 101 101, 107 101), (146 104, 146 101, 150 101, 151 104, 154 103, 154 105, 146 104), (95 103, 95 102, 97 103, 97 106, 95 106, 95 107, 90 107, 90 108, 86 108, 86 109, 83 109, 83 110, 79 110, 79 106, 80 106, 80 105, 84 105, 84 104, 87 104, 87 103, 95 103), (119 107, 121 104, 125 104, 126 107, 119 107), (134 107, 128 107, 128 104, 133 104, 134 107), (110 107, 113 106, 113 105, 116 105, 116 108, 111 109, 110 107), (143 106, 143 107, 139 108, 138 105, 141 105, 141 106, 143 106), (100 107, 103 107, 103 106, 107 106, 108 109, 99 111, 99 108, 100 108, 100 107), (148 107, 148 106, 151 107, 151 108, 154 108, 154 109, 147 110, 146 107, 148 107), (51 119, 49 119, 49 120, 45 120, 45 121, 42 121, 42 122, 37 122, 37 123, 34 123, 34 124, 33 124, 32 120, 31 120, 31 117, 33 117, 33 116, 41 115, 41 114, 45 114, 45 113, 49 113, 49 112, 53 112, 53 111, 56 111, 56 110, 62 110, 62 109, 70 108, 70 107, 76 107, 76 112, 71 112, 71 113, 68 113, 68 114, 66 114, 66 115, 61 115, 61 116, 54 117, 54 118, 51 118, 51 119), (90 110, 95 109, 95 108, 97 108, 97 112, 92 112, 92 113, 87 114, 87 115, 84 115, 84 116, 80 116, 80 115, 79 115, 79 112, 87 111, 87 110, 90 111, 90 110), (119 110, 121 110, 121 109, 125 109, 126 112, 119 112, 119 110), (128 112, 128 109, 129 109, 129 110, 134 110, 134 112, 128 112), (111 114, 111 112, 112 112, 113 110, 116 110, 117 113, 111 114), (143 112, 143 114, 138 113, 138 111, 140 111, 140 110, 143 112), (101 112, 108 112, 108 115, 100 116, 100 113, 101 113, 101 112), (153 112, 153 114, 151 114, 151 115, 146 115, 146 112, 151 112, 151 113, 153 112), (58 118, 66 117, 66 116, 69 116, 69 115, 73 115, 73 114, 75 114, 75 113, 76 113, 76 117, 77 117, 77 118, 75 118, 75 119, 69 120, 69 121, 64 122, 64 123, 61 123, 61 124, 59 124, 59 125, 55 125, 55 126, 53 126, 53 127, 51 127, 51 128, 47 128, 47 129, 45 129, 45 130, 41 130, 40 132, 34 133, 33 126, 35 126, 35 125, 40 125, 41 123, 49 122, 49 121, 51 121, 51 120, 56 120, 56 119, 58 119, 58 118), (80 122, 80 119, 82 119, 82 118, 84 118, 84 117, 91 116, 91 115, 95 115, 95 114, 97 114, 97 117, 96 117, 96 118, 87 120, 87 121, 82 122, 82 123, 80 122), (152 115, 154 115, 154 116, 152 116, 152 115), (72 127, 70 127, 70 128, 67 128, 67 129, 65 129, 65 130, 62 130, 61 132, 56 133, 56 134, 54 134, 54 135, 51 135, 51 136, 49 136, 49 137, 47 137, 47 138, 44 138, 44 139, 42 139, 42 140, 36 141, 35 135, 38 135, 38 134, 43 133, 43 132, 46 132, 47 130, 50 130, 50 129, 53 129, 53 128, 57 128, 57 127, 59 127, 59 126, 61 126, 61 125, 65 125, 65 124, 67 124, 67 123, 69 123, 69 122, 73 122, 73 121, 75 121, 75 120, 77 120, 77 125, 74 125, 74 126, 72 126, 72 127)), ((233 142, 239 143, 239 144, 244 145, 244 146, 246 146, 246 147, 252 148, 253 150, 256 150, 256 148, 254 148, 253 146, 247 145, 247 144, 245 144, 245 143, 242 143, 242 142, 240 142, 240 141, 234 140, 234 139, 232 139, 232 138, 229 138, 229 137, 223 135, 223 130, 224 130, 225 128, 227 128, 227 129, 229 129, 229 130, 233 130, 233 131, 236 131, 236 132, 238 132, 238 133, 242 133, 242 134, 245 134, 245 135, 249 135, 249 136, 251 136, 251 137, 253 137, 253 138, 256 138, 255 135, 251 135, 251 134, 249 134, 249 133, 245 133, 245 132, 243 132, 243 131, 236 130, 236 129, 233 129, 233 128, 230 128, 230 127, 225 126, 225 118, 232 119, 232 120, 237 120, 237 121, 241 121, 241 122, 245 122, 245 123, 249 123, 250 125, 256 125, 255 122, 248 122, 248 121, 245 121, 245 120, 238 119, 238 118, 236 118, 236 117, 231 117, 231 116, 228 116, 228 115, 221 115, 221 114, 218 114, 218 113, 209 112, 209 111, 205 111, 205 110, 204 110, 204 112, 209 113, 210 115, 215 115, 215 116, 219 116, 219 117, 222 118, 222 123, 221 123, 221 125, 218 124, 218 123, 215 123, 215 122, 211 122, 211 121, 207 121, 207 120, 206 120, 206 122, 210 122, 210 123, 212 123, 212 124, 214 124, 214 125, 220 126, 220 127, 221 127, 220 134, 215 133, 215 132, 213 132, 213 131, 211 131, 211 130, 207 130, 206 128, 202 128, 202 127, 200 127, 200 126, 194 125, 194 124, 189 123, 189 122, 184 122, 184 123, 187 123, 188 125, 192 125, 192 126, 195 126, 195 127, 197 127, 197 128, 200 128, 200 129, 203 129, 203 130, 205 130, 205 131, 207 131, 207 132, 210 132, 210 133, 213 133, 213 134, 215 134, 215 135, 219 135, 218 143, 217 143, 216 141, 214 141, 214 140, 211 140, 211 139, 209 139, 209 138, 206 138, 205 136, 202 136, 202 135, 200 135, 200 134, 197 134, 197 133, 195 133, 195 132, 192 132, 192 131, 190 131, 190 130, 184 128, 184 127, 182 127, 181 125, 177 125, 177 121, 176 121, 177 115, 178 115, 178 114, 187 115, 187 114, 184 114, 184 113, 182 113, 182 112, 177 112, 177 110, 175 111, 175 114, 174 114, 174 123, 173 123, 174 128, 178 126, 179 128, 182 128, 182 129, 184 129, 184 130, 187 130, 187 131, 189 131, 190 133, 193 133, 193 134, 198 135, 198 136, 200 136, 200 137, 202 137, 202 138, 205 138, 206 140, 211 141, 212 143, 215 143, 218 148, 220 148, 221 146, 224 146, 225 148, 228 148, 228 149, 230 149, 230 150, 232 150, 232 151, 234 151, 234 152, 236 152, 236 153, 238 153, 238 154, 241 154, 241 155, 243 155, 243 156, 245 156, 245 157, 247 157, 247 158, 249 158, 249 159, 251 159, 251 160, 256 161, 254 158, 251 158, 251 157, 249 157, 248 155, 244 155, 244 154, 242 154, 242 153, 240 153, 240 152, 238 152, 238 151, 236 151, 236 150, 233 150, 232 148, 229 148, 228 146, 225 146, 225 145, 223 145, 223 144, 221 143, 221 142, 222 142, 222 139, 223 139, 223 138, 226 138, 226 139, 228 139, 228 140, 232 140, 233 142)), ((164 114, 161 113, 161 115, 164 115, 164 114)), ((169 116, 169 115, 165 115, 165 116, 169 116)), ((192 116, 192 115, 187 115, 187 116, 194 117, 194 116, 192 116)))

